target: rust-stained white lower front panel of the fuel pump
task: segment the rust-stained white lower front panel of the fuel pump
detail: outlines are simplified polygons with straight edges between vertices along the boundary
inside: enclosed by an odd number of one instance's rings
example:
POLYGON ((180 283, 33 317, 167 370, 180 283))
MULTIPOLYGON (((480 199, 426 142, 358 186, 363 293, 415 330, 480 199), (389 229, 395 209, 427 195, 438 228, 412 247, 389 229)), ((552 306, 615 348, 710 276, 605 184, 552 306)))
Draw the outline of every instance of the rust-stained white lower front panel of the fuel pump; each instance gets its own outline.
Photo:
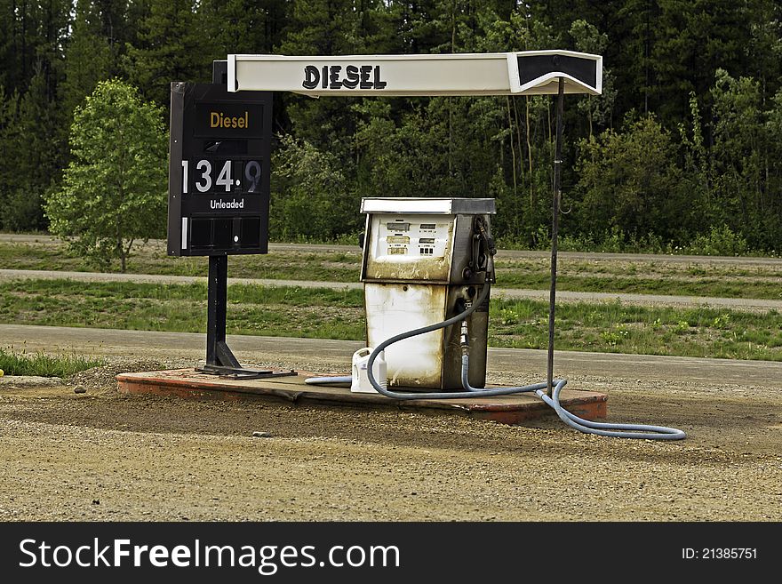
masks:
MULTIPOLYGON (((445 320, 447 286, 364 284, 367 346, 445 320)), ((443 383, 443 330, 401 340, 386 349, 389 387, 438 389, 443 383)))

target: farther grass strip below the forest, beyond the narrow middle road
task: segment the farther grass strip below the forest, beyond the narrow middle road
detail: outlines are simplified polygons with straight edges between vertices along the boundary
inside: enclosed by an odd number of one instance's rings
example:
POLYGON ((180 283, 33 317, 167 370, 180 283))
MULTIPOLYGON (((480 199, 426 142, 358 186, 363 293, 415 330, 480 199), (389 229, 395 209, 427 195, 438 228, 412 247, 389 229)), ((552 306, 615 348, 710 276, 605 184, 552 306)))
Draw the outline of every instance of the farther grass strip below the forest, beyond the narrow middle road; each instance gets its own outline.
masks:
MULTIPOLYGON (((0 242, 0 268, 89 271, 92 268, 48 242, 0 242)), ((205 258, 170 258, 163 246, 141 247, 129 263, 137 274, 206 276, 205 258)), ((276 250, 265 255, 232 256, 232 277, 358 282, 361 252, 301 252, 276 250)), ((497 256, 497 282, 504 288, 546 290, 547 259, 519 260, 497 256)), ((631 260, 569 260, 558 266, 559 290, 570 292, 628 292, 722 298, 782 300, 782 268, 737 267, 727 264, 631 260)))

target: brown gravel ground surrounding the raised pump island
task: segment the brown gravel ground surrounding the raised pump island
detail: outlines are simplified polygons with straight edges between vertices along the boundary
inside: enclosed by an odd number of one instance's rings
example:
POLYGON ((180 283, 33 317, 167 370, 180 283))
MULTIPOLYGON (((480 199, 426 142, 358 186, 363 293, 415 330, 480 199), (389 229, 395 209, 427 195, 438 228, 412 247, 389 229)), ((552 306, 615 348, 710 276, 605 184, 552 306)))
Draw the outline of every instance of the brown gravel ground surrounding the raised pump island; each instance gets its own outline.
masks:
MULTIPOLYGON (((346 372, 355 343, 229 339, 243 361, 346 372)), ((610 420, 678 443, 387 410, 116 394, 116 372, 189 366, 203 338, 0 326, 0 346, 103 355, 64 384, 0 385, 0 520, 782 519, 782 364, 563 353, 610 420), (75 384, 87 388, 73 392, 75 384), (270 437, 255 438, 253 431, 270 437)), ((539 380, 539 351, 492 349, 490 380, 539 380)))

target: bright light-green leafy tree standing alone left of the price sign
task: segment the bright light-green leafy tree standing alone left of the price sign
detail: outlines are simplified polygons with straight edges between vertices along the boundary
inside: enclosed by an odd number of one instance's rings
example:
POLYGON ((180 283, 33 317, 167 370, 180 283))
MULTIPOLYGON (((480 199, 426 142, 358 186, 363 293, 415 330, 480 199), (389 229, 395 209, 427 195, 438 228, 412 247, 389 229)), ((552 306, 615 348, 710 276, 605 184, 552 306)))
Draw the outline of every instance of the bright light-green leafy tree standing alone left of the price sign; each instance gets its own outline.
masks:
POLYGON ((76 108, 73 160, 45 204, 52 233, 72 251, 122 271, 133 242, 163 236, 167 143, 162 112, 117 79, 98 84, 76 108))

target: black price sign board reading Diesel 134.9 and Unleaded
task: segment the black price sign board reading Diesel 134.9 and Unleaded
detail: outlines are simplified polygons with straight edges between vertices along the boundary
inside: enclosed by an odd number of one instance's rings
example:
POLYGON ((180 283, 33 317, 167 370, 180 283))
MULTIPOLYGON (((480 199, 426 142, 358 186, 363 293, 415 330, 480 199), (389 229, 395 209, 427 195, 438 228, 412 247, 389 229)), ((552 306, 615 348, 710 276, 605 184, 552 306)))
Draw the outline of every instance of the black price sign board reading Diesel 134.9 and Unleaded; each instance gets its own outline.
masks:
POLYGON ((171 85, 168 254, 266 253, 271 92, 171 85))

